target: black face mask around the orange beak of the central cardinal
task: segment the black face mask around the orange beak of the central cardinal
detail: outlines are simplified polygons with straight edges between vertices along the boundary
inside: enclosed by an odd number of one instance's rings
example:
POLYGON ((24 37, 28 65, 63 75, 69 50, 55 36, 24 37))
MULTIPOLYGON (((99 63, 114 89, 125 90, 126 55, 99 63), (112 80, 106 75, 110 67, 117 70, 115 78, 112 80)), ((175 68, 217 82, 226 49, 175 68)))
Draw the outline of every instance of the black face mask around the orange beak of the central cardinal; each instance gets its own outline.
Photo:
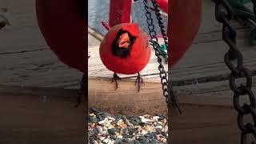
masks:
POLYGON ((130 50, 132 49, 132 46, 134 45, 136 38, 133 37, 128 31, 120 29, 118 31, 118 34, 116 38, 114 39, 114 42, 112 43, 112 53, 120 58, 126 58, 128 55, 130 55, 130 50), (127 43, 127 47, 120 47, 119 41, 122 37, 122 34, 128 34, 129 41, 127 43))

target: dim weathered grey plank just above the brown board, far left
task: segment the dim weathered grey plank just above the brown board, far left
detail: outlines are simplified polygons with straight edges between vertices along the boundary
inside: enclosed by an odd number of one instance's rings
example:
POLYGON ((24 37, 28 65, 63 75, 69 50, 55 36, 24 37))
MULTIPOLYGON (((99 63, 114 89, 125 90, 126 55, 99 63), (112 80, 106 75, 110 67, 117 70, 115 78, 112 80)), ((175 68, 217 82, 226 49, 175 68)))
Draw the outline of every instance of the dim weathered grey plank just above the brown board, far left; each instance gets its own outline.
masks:
POLYGON ((49 49, 2 54, 2 85, 78 87, 82 74, 58 61, 49 49))

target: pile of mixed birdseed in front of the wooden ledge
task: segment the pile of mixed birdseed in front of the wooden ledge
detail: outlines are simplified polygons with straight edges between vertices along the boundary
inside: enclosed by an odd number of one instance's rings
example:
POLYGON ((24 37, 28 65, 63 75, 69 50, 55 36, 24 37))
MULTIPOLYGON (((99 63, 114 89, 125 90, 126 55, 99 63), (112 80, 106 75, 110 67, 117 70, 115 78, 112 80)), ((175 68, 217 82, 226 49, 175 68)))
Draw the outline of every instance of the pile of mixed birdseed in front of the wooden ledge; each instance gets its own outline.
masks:
POLYGON ((93 108, 88 114, 88 136, 90 144, 166 144, 167 120, 163 115, 113 116, 93 108))

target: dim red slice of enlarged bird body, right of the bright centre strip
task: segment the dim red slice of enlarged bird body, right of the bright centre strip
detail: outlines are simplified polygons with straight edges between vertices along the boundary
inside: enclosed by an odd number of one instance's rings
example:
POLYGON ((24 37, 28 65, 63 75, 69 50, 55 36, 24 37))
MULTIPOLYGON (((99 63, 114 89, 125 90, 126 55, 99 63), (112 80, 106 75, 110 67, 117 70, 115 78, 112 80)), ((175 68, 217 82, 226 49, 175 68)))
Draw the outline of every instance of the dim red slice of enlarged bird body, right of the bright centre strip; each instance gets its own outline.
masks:
POLYGON ((201 23, 201 0, 171 0, 168 17, 169 67, 186 53, 201 23))

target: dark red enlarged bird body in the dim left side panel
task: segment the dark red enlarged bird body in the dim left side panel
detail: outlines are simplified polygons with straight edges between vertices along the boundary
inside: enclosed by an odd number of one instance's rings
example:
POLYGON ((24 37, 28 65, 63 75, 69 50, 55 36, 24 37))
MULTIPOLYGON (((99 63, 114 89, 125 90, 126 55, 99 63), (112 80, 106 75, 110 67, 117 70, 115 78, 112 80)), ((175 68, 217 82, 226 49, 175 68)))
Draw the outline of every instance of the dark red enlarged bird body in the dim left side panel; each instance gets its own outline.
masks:
POLYGON ((87 25, 78 1, 36 0, 36 14, 50 49, 66 65, 87 73, 87 25))

